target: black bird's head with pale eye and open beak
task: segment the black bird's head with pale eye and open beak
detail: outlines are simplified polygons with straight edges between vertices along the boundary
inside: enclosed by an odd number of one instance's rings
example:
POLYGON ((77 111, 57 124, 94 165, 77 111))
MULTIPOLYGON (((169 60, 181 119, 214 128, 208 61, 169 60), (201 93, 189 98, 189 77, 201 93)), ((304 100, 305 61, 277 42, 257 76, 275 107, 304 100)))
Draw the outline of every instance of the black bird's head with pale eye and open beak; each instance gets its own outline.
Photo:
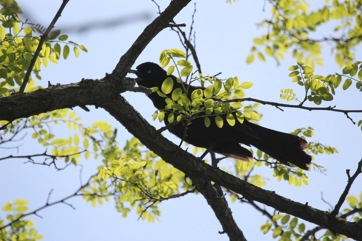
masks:
POLYGON ((168 77, 166 71, 158 64, 146 62, 131 69, 130 73, 136 74, 136 83, 147 88, 160 87, 168 77))

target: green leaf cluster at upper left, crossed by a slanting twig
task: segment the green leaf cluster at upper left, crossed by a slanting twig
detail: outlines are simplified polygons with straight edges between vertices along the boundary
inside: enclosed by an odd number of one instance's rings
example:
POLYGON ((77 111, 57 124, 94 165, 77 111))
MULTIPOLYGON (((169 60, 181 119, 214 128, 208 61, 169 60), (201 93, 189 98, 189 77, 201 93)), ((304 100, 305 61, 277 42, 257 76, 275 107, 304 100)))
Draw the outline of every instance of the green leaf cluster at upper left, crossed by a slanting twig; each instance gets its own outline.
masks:
MULTIPOLYGON (((22 22, 17 14, 21 13, 16 1, 2 1, 0 26, 0 96, 7 96, 16 86, 21 86, 30 61, 38 47, 39 40, 44 34, 44 28, 39 24, 22 22), (1 80, 3 79, 3 80, 1 80)), ((87 49, 72 41, 66 42, 67 35, 60 35, 60 30, 52 31, 46 38, 42 50, 35 61, 32 72, 35 77, 39 75, 40 66, 48 66, 48 61, 58 63, 63 46, 63 57, 67 59, 70 48, 74 46, 75 56, 79 56, 79 48, 85 52, 87 49)), ((34 90, 30 83, 28 91, 34 90)))

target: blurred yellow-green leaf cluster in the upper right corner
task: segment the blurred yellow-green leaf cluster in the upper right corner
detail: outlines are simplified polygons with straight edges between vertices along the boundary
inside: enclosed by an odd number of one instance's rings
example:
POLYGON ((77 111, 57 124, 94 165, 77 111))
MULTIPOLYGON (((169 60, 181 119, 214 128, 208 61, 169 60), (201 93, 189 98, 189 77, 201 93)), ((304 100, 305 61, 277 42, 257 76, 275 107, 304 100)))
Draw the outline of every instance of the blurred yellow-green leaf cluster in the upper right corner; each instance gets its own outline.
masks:
POLYGON ((271 5, 271 19, 259 23, 259 26, 268 29, 268 33, 253 39, 254 46, 251 48, 251 55, 247 57, 247 63, 252 63, 255 55, 265 62, 264 55, 267 55, 279 64, 290 50, 298 62, 303 61, 312 67, 315 63, 323 65, 320 43, 329 42, 338 65, 352 64, 353 50, 362 40, 361 1, 327 0, 325 5, 315 11, 310 11, 308 3, 300 0, 268 2, 271 5), (310 37, 318 27, 331 21, 340 22, 333 29, 339 35, 338 38, 310 37))

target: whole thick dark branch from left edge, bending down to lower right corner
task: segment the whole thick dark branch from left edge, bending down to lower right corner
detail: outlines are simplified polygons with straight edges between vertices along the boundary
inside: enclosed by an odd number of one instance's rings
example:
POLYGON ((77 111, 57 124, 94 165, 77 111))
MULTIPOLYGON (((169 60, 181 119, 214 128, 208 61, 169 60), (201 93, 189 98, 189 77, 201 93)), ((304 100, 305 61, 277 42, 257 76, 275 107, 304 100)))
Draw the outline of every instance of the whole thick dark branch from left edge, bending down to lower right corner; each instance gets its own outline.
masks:
MULTIPOLYGON (((127 82, 127 78, 122 82, 127 82)), ((350 223, 337 217, 329 219, 328 212, 316 210, 283 198, 272 191, 253 186, 218 168, 199 162, 193 155, 185 151, 178 150, 177 145, 160 135, 122 96, 118 95, 127 88, 127 85, 123 86, 115 80, 83 80, 75 84, 51 86, 47 89, 12 95, 0 98, 0 119, 14 120, 79 105, 95 105, 104 108, 150 150, 183 171, 186 176, 202 177, 205 180, 214 181, 220 186, 241 194, 247 200, 264 203, 281 212, 328 228, 334 233, 362 240, 362 230, 357 227, 356 223, 350 223), (175 154, 176 150, 178 151, 175 154)))

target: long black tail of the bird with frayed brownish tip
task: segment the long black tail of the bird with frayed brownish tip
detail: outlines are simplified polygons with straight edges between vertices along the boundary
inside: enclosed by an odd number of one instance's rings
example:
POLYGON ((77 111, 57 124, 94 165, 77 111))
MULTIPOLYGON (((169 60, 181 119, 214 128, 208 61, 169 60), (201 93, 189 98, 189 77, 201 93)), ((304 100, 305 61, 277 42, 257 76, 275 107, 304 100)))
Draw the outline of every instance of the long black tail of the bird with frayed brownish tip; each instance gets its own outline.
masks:
POLYGON ((286 165, 292 163, 297 167, 308 170, 312 158, 304 151, 308 146, 306 140, 296 135, 270 130, 250 122, 245 124, 260 137, 251 139, 250 145, 281 163, 286 165))

